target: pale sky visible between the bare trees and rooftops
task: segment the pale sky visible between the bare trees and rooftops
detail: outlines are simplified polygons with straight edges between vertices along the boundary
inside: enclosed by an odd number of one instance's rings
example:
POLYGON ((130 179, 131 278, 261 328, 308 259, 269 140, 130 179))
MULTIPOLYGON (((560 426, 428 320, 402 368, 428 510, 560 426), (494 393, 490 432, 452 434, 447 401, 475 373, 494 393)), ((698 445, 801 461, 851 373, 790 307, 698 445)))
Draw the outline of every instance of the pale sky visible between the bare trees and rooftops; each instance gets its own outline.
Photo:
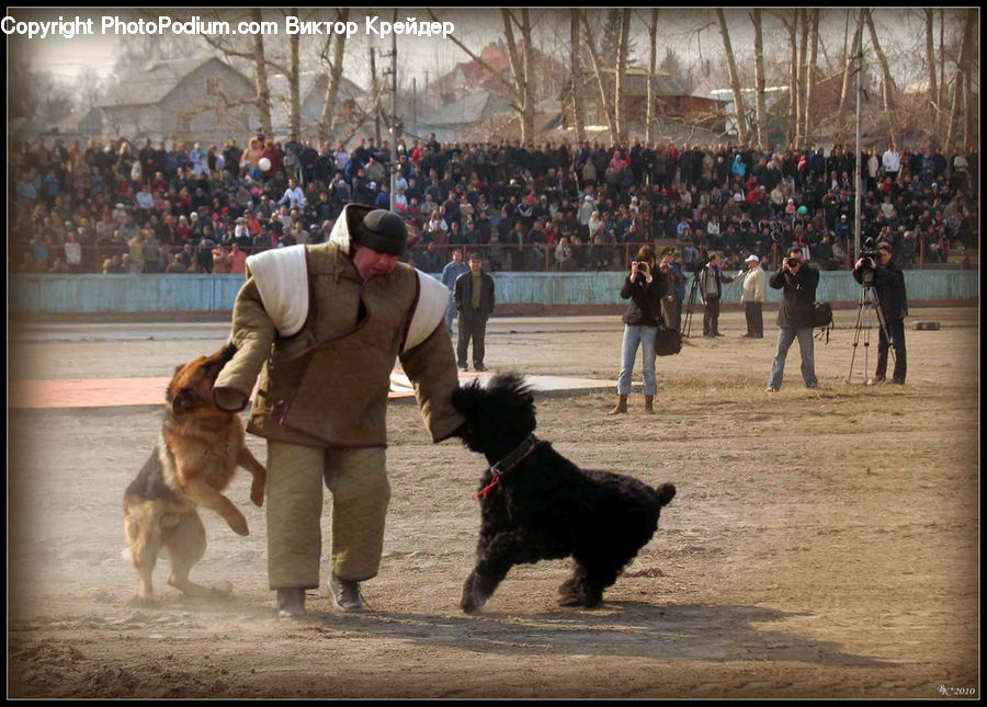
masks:
MULTIPOLYGON (((203 14, 211 11, 211 8, 200 8, 197 10, 175 10, 169 9, 170 12, 181 16, 183 13, 191 18, 194 14, 203 14)), ((779 9, 775 9, 779 10, 779 9)), ((568 41, 567 25, 565 25, 564 36, 561 38, 554 37, 546 28, 545 23, 541 22, 541 18, 547 13, 556 13, 557 8, 532 9, 532 20, 536 27, 535 44, 554 44, 555 46, 564 46, 568 41)), ((35 20, 57 20, 58 16, 70 19, 80 16, 82 19, 95 19, 95 36, 78 35, 70 39, 60 36, 50 36, 44 39, 31 39, 32 60, 37 68, 52 71, 59 78, 72 79, 83 66, 95 68, 100 73, 109 75, 112 69, 115 53, 120 41, 111 34, 100 34, 99 18, 102 14, 122 14, 124 10, 73 10, 73 9, 29 9, 16 10, 11 9, 9 14, 21 19, 35 20)), ((276 10, 270 10, 274 16, 280 16, 276 10)), ((328 16, 332 11, 326 11, 328 16)), ((455 23, 456 36, 464 43, 478 50, 487 42, 496 41, 502 37, 502 22, 498 8, 494 9, 441 9, 435 11, 442 20, 450 20, 455 23)), ((726 11, 726 18, 729 24, 731 41, 735 52, 738 55, 738 61, 744 61, 746 55, 752 52, 752 30, 751 23, 747 18, 747 11, 742 9, 730 8, 726 11)), ((878 33, 886 37, 886 49, 889 55, 894 53, 895 41, 905 39, 915 36, 917 32, 923 32, 919 10, 876 10, 874 13, 878 33)), ((352 11, 353 19, 361 22, 367 11, 354 9, 352 11)), ((390 19, 389 10, 371 11, 371 14, 379 13, 384 19, 390 19)), ((417 16, 419 20, 428 19, 428 12, 422 9, 401 9, 398 13, 399 18, 417 16)), ((649 8, 635 8, 634 22, 638 30, 636 32, 637 54, 635 56, 638 65, 646 64, 648 59, 647 34, 644 23, 649 20, 649 8)), ((786 48, 786 39, 780 30, 779 22, 769 15, 765 10, 765 42, 768 52, 774 52, 783 55, 786 48), (772 28, 773 27, 773 28, 772 28)), ((850 31, 852 32, 853 23, 850 22, 850 31)), ((824 13, 822 42, 825 54, 827 56, 839 56, 843 50, 843 39, 847 32, 846 11, 830 10, 824 13)), ((665 56, 665 48, 672 47, 681 57, 691 62, 700 57, 712 58, 717 60, 723 55, 723 44, 719 36, 718 27, 715 24, 715 15, 711 9, 669 9, 662 8, 659 12, 659 32, 658 32, 658 60, 665 56), (701 31, 696 31, 701 28, 701 31)), ((937 37, 938 39, 938 37, 937 37)), ((381 49, 389 49, 389 38, 381 39, 372 37, 372 43, 381 49)), ((366 38, 362 38, 361 43, 354 43, 353 54, 348 58, 347 71, 359 83, 366 83, 368 80, 368 69, 366 61, 366 38)), ((205 52, 205 47, 203 49, 205 52)), ((417 77, 419 84, 424 79, 426 72, 431 76, 440 71, 451 69, 455 62, 468 60, 468 57, 449 39, 433 37, 407 37, 398 38, 398 55, 401 58, 402 76, 417 77)), ((820 52, 820 61, 824 60, 822 52, 820 52)), ((903 57, 907 58, 907 57, 903 57)), ((892 57, 893 64, 896 64, 892 57)), ((896 64, 896 68, 900 66, 896 64)), ((911 79, 911 77, 907 77, 911 79)))

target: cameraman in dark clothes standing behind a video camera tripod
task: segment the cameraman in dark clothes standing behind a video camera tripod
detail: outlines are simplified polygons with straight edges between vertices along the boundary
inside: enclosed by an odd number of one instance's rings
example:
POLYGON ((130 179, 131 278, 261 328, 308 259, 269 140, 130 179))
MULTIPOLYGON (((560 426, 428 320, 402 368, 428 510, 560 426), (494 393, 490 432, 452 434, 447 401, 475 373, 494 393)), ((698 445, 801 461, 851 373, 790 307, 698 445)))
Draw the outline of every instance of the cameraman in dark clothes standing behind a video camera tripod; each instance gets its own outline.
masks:
POLYGON ((887 373, 887 335, 895 347, 895 372, 892 383, 905 385, 907 360, 905 356, 905 317, 908 315, 908 296, 905 292, 905 273, 892 259, 893 248, 888 242, 882 242, 877 250, 864 250, 860 260, 853 266, 853 278, 864 284, 872 282, 877 305, 884 315, 887 324, 887 334, 881 327, 881 338, 877 344, 877 367, 874 376, 867 380, 869 386, 884 381, 887 373), (873 280, 869 274, 873 273, 873 280))

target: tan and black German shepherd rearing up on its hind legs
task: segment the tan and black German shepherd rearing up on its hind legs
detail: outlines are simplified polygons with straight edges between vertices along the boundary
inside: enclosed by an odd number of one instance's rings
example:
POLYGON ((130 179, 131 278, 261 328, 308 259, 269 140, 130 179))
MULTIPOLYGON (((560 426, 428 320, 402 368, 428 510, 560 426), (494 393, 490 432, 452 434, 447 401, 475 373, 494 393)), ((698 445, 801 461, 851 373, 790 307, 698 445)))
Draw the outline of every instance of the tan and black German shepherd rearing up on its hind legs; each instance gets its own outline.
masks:
POLYGON ((264 501, 266 471, 245 444, 242 421, 213 402, 216 377, 236 351, 229 344, 175 368, 158 444, 124 493, 124 532, 139 574, 138 598, 154 592, 151 572, 162 549, 171 558, 171 586, 194 596, 228 593, 195 584, 189 571, 206 547, 196 506, 222 515, 234 533, 249 534, 243 514, 220 493, 237 466, 253 475, 250 500, 258 506, 264 501))

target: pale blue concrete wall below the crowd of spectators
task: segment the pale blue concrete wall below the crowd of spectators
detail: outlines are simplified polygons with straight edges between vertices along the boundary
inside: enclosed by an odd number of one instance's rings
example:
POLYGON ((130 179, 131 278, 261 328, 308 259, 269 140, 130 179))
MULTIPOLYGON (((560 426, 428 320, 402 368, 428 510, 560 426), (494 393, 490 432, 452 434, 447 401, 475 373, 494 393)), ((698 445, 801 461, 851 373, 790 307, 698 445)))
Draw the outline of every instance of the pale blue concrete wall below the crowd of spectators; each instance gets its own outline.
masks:
MULTIPOLYGON (((495 273, 498 305, 548 308, 614 306, 623 273, 495 273)), ((966 301, 979 298, 977 271, 907 271, 908 300, 966 301)), ((242 275, 11 275, 9 311, 125 313, 229 311, 242 275)), ((816 298, 856 303, 860 285, 849 272, 820 273, 816 298)), ((768 288, 768 301, 781 290, 768 288)), ((740 281, 724 287, 725 304, 740 300, 740 281)))

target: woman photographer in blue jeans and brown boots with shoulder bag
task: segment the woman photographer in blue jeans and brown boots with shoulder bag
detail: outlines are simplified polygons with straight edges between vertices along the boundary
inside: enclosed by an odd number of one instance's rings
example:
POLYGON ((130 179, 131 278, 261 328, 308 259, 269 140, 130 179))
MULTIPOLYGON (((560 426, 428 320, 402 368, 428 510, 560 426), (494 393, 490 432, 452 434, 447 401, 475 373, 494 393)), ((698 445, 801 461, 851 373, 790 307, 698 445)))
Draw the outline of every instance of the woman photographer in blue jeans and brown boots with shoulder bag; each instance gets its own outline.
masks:
POLYGON ((665 321, 661 316, 661 300, 668 295, 668 281, 655 271, 655 249, 642 246, 637 259, 631 263, 631 273, 621 287, 621 298, 629 299, 623 317, 624 341, 621 354, 621 375, 617 378, 617 403, 609 414, 627 412, 627 396, 631 395, 631 374, 637 349, 640 347, 645 397, 645 412, 655 412, 655 334, 665 321))

